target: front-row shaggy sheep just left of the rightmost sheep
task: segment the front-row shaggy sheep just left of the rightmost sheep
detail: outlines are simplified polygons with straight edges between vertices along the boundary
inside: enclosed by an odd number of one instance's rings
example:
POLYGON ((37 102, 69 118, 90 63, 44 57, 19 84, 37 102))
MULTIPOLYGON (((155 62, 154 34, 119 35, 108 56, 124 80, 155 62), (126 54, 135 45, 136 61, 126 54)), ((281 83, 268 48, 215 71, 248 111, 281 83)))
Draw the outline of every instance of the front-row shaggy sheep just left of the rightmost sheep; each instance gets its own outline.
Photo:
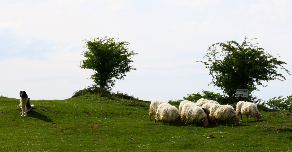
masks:
MULTIPOLYGON (((217 126, 219 125, 218 120, 225 120, 226 125, 228 120, 234 121, 235 126, 237 126, 239 123, 239 119, 237 118, 235 110, 230 105, 212 105, 210 108, 209 119, 215 120, 217 126)), ((231 124, 232 121, 229 124, 231 124)))

